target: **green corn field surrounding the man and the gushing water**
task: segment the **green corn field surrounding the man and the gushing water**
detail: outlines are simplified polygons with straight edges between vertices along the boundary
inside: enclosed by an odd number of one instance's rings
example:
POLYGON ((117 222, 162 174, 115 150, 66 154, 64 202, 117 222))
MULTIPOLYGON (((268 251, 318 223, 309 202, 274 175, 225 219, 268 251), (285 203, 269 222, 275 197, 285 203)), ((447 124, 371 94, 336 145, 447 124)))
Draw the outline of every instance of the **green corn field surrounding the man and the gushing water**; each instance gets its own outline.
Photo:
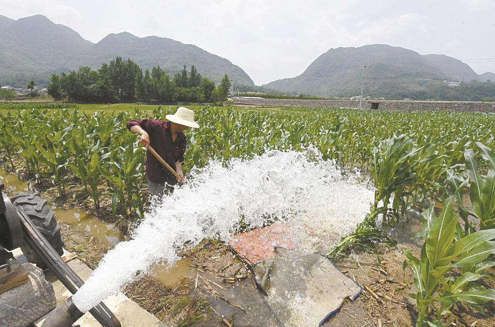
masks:
MULTIPOLYGON (((0 160, 7 169, 18 169, 15 162, 22 158, 32 178, 50 178, 61 196, 73 174, 96 208, 101 195, 110 194, 114 213, 142 217, 146 150, 125 123, 164 119, 175 108, 93 113, 77 108, 1 109, 0 160)), ((495 265, 495 115, 210 106, 196 108, 195 114, 200 128, 186 132, 186 171, 212 159, 313 146, 345 169, 369 172, 376 188, 370 214, 328 256, 353 246, 373 250, 376 242, 394 243, 378 228, 378 217, 382 225, 394 225, 408 208, 425 210, 423 252, 420 258, 406 253, 404 263, 412 268, 418 290, 418 326, 436 324, 427 322, 435 302, 441 304, 438 312, 457 301, 482 311, 483 304, 495 298, 492 289, 476 284, 490 277, 486 270, 495 265), (462 203, 462 192, 468 189, 473 212, 462 203), (439 218, 432 203, 444 203, 439 218), (469 216, 480 222, 479 228, 469 216), (453 277, 453 268, 463 274, 453 277)))

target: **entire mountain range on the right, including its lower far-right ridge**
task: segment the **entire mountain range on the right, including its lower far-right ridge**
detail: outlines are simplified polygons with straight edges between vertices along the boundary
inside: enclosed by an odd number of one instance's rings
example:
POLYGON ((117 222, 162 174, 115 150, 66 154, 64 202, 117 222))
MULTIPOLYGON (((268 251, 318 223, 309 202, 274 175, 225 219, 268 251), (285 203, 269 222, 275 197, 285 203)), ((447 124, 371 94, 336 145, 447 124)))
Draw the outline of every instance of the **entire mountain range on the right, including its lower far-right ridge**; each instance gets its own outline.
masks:
POLYGON ((263 87, 293 94, 359 95, 365 64, 365 96, 454 99, 458 98, 458 93, 461 98, 482 99, 493 97, 495 91, 492 90, 494 87, 488 87, 475 92, 476 87, 471 86, 458 92, 443 83, 444 80, 460 81, 462 75, 465 75, 465 81, 480 79, 468 65, 457 59, 444 55, 421 55, 402 47, 380 44, 332 48, 316 58, 302 74, 273 81, 263 87), (472 92, 476 94, 471 97, 472 92))

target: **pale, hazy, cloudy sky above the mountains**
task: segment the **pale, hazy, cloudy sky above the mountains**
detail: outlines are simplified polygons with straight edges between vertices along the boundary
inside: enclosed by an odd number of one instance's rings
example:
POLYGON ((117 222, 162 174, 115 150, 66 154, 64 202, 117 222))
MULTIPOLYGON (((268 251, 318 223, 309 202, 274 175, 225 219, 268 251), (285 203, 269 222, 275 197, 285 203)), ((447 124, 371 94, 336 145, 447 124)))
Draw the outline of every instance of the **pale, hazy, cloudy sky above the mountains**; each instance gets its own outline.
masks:
POLYGON ((93 43, 127 31, 194 44, 256 85, 297 76, 330 48, 377 43, 495 72, 495 0, 0 0, 0 14, 42 14, 93 43))

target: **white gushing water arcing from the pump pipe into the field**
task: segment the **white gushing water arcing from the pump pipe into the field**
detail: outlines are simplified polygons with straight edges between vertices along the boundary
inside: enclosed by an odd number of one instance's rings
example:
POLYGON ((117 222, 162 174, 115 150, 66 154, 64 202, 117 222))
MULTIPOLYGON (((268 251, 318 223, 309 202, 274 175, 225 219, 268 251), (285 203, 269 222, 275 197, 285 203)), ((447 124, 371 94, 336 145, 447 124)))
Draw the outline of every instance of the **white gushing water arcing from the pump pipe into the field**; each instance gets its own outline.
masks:
POLYGON ((153 263, 173 265, 185 244, 194 247, 206 237, 227 241, 241 219, 253 227, 267 219, 289 220, 303 247, 330 246, 364 218, 373 196, 314 149, 274 150, 227 165, 211 161, 191 175, 153 206, 132 240, 103 257, 73 296, 79 310, 88 311, 144 276, 153 263))

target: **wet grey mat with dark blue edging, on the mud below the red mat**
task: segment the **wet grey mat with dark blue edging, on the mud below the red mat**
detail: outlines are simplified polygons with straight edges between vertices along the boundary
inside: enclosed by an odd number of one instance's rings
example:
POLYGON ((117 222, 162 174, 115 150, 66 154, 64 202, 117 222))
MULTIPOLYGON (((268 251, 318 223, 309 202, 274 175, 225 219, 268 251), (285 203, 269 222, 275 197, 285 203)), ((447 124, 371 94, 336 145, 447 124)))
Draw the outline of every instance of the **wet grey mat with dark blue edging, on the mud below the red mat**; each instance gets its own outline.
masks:
POLYGON ((321 325, 362 290, 324 256, 300 250, 277 249, 276 257, 256 264, 253 272, 284 326, 321 325))

